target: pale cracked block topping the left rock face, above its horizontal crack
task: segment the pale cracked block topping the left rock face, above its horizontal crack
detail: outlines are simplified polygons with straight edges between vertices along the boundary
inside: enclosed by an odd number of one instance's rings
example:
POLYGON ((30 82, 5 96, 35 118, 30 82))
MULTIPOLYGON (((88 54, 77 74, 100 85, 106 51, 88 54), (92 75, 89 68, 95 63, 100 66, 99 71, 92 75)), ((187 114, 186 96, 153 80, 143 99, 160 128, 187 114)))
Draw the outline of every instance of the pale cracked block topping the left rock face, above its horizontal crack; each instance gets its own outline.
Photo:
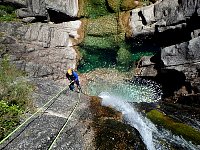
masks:
POLYGON ((79 40, 78 29, 81 21, 61 24, 32 24, 27 30, 24 40, 43 47, 67 47, 76 45, 79 40))

